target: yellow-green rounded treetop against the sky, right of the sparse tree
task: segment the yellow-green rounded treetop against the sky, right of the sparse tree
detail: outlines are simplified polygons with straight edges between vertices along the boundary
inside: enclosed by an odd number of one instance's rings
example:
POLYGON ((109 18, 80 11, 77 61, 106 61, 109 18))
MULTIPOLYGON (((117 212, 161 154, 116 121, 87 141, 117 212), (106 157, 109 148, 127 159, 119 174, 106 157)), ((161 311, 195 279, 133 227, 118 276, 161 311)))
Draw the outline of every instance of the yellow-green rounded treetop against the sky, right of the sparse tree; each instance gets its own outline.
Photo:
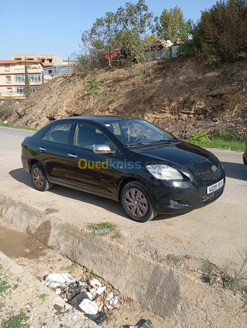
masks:
POLYGON ((192 21, 184 19, 180 7, 176 6, 170 10, 164 9, 161 16, 155 17, 157 35, 165 40, 171 40, 176 43, 177 38, 184 41, 188 39, 188 33, 191 29, 192 21))

